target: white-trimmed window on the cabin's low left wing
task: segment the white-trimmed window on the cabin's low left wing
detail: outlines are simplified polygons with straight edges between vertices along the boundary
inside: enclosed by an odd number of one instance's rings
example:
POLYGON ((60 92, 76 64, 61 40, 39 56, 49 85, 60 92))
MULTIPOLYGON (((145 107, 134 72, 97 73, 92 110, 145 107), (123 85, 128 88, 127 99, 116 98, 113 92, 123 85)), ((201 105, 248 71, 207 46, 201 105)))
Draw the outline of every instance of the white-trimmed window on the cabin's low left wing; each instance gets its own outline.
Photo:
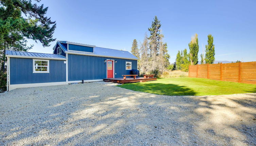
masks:
POLYGON ((33 73, 49 73, 49 60, 33 59, 33 73))

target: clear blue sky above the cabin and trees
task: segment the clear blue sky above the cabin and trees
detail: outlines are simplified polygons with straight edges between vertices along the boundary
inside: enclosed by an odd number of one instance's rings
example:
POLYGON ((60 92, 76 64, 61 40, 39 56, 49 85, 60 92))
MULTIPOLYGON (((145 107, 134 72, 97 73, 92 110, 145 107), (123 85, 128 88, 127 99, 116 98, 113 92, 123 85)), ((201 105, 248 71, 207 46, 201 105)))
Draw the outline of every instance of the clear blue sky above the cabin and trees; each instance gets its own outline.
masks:
MULTIPOLYGON (((191 36, 198 34, 199 55, 207 35, 214 36, 216 60, 256 61, 256 1, 84 1, 42 0, 47 16, 56 21, 57 40, 131 50, 133 39, 142 42, 154 16, 168 45, 170 62, 178 50, 188 49, 191 36)), ((50 47, 34 44, 30 52, 52 53, 50 47)), ((200 59, 199 59, 200 61, 200 59)))

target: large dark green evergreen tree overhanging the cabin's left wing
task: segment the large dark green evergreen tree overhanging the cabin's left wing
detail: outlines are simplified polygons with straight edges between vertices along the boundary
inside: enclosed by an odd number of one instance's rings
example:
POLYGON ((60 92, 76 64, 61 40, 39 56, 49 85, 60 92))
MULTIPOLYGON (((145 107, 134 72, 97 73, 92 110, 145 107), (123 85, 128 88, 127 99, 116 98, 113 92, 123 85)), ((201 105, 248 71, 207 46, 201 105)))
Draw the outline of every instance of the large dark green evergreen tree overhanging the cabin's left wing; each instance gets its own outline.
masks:
MULTIPOLYGON (((40 2, 40 0, 36 0, 40 2)), ((38 6, 31 0, 1 0, 0 1, 0 55, 1 70, 4 70, 4 50, 27 51, 33 47, 27 46, 27 39, 40 41, 43 47, 48 47, 54 41, 52 38, 56 23, 46 15, 48 7, 38 6), (25 16, 25 17, 24 17, 25 16)))

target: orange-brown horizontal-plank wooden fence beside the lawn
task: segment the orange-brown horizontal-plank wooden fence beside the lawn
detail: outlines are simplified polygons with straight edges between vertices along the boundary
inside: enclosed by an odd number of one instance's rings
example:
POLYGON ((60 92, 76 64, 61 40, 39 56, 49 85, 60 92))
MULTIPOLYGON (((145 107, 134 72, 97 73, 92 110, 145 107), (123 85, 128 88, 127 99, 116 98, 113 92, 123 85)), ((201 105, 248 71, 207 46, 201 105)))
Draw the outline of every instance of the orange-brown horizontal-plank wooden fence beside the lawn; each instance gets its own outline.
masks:
POLYGON ((188 76, 256 84, 256 62, 190 65, 188 76))

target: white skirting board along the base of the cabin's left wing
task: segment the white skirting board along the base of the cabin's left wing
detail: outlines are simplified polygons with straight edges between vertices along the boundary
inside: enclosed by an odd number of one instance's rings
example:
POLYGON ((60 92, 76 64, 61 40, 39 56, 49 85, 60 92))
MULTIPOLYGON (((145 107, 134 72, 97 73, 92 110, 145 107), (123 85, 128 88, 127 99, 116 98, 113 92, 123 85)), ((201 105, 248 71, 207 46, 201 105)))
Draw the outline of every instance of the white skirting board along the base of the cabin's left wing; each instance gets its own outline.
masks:
POLYGON ((9 85, 9 91, 16 89, 16 88, 55 86, 55 85, 66 85, 66 81, 49 82, 49 83, 33 83, 33 84, 14 84, 14 85, 9 85))

